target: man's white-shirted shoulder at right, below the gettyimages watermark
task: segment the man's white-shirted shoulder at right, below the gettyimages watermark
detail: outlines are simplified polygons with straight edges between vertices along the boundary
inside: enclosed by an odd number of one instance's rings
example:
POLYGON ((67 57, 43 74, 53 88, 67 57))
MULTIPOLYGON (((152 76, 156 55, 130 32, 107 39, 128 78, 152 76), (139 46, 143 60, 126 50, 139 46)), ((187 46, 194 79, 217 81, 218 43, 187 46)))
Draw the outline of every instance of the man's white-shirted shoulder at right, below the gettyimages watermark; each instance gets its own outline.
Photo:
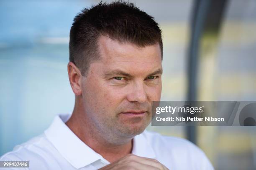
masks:
POLYGON ((173 163, 186 163, 195 169, 213 169, 205 153, 189 140, 146 130, 143 135, 159 157, 169 158, 173 163))

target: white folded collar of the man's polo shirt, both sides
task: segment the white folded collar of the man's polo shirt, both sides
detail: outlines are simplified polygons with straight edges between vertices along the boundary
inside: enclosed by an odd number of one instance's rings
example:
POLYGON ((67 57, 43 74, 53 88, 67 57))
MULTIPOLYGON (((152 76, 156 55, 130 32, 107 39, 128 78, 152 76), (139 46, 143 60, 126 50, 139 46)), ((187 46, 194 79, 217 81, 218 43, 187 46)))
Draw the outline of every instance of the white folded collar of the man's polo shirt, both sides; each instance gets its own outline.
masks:
MULTIPOLYGON (((65 122, 71 115, 57 115, 50 127, 45 130, 46 138, 54 145, 59 153, 75 168, 79 169, 90 165, 97 160, 109 163, 100 154, 82 142, 70 130, 65 122)), ((141 157, 155 158, 153 148, 149 145, 144 133, 133 138, 132 153, 141 157)))

